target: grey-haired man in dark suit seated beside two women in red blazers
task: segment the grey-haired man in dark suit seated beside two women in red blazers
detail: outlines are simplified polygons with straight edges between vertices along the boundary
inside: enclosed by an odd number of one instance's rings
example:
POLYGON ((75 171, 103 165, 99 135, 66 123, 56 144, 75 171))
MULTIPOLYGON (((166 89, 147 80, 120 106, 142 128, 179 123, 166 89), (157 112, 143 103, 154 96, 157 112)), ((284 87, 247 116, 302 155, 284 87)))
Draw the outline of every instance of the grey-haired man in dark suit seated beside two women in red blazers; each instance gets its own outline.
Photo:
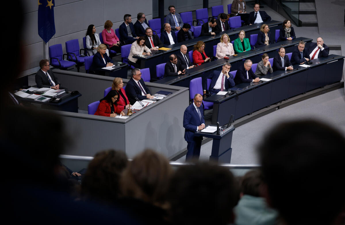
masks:
POLYGON ((141 79, 140 69, 134 68, 131 71, 132 78, 129 79, 126 85, 126 95, 131 105, 133 105, 138 98, 140 101, 148 98, 154 98, 150 90, 146 87, 144 81, 141 79))

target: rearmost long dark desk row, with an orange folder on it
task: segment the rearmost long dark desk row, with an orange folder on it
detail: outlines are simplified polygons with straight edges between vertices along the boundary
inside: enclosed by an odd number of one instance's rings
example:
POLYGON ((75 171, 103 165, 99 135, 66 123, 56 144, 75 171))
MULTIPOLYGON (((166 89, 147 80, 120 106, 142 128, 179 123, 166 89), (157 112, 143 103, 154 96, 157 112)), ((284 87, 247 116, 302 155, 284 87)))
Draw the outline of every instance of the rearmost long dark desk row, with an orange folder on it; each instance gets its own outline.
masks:
MULTIPOLYGON (((180 50, 181 45, 187 46, 187 51, 190 51, 190 50, 193 50, 194 45, 198 41, 204 41, 205 53, 207 56, 211 57, 213 56, 213 46, 217 45, 220 42, 220 36, 223 35, 223 33, 226 33, 230 37, 230 40, 232 41, 238 38, 238 33, 240 30, 244 30, 246 32, 246 38, 249 38, 249 35, 258 33, 261 25, 263 24, 264 23, 256 23, 249 26, 222 31, 216 36, 202 36, 202 37, 197 37, 197 38, 190 39, 184 42, 178 42, 174 45, 166 46, 167 48, 171 48, 171 50, 169 51, 164 51, 164 52, 156 51, 156 52, 153 52, 151 56, 147 56, 145 58, 138 57, 138 56, 134 56, 134 58, 141 59, 141 68, 150 68, 151 77, 154 78, 156 77, 156 65, 167 62, 171 54, 176 53, 180 50)), ((274 40, 275 38, 274 30, 280 29, 283 22, 271 20, 271 21, 266 22, 266 24, 271 29, 270 40, 274 40)))

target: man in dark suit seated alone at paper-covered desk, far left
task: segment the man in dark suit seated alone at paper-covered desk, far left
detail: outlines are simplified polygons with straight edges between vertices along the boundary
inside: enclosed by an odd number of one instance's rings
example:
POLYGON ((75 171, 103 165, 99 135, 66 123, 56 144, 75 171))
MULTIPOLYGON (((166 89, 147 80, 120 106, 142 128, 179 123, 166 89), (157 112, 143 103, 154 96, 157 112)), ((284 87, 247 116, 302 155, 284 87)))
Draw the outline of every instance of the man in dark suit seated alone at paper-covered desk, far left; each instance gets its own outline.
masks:
POLYGON ((36 75, 35 75, 35 81, 38 88, 51 88, 51 89, 65 89, 60 87, 60 81, 55 76, 52 70, 49 69, 49 60, 48 59, 42 59, 40 61, 40 68, 36 75))

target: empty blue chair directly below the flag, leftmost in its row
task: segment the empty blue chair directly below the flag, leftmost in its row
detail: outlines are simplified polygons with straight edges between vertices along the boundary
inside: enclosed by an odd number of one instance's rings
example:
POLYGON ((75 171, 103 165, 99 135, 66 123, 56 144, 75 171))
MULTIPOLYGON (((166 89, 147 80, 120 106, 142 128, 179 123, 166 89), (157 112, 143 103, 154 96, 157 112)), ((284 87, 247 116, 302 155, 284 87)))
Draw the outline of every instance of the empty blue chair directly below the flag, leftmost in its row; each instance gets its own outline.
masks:
POLYGON ((62 53, 61 44, 49 46, 50 65, 63 70, 66 70, 68 67, 76 65, 75 62, 63 60, 64 56, 67 57, 67 54, 62 53))

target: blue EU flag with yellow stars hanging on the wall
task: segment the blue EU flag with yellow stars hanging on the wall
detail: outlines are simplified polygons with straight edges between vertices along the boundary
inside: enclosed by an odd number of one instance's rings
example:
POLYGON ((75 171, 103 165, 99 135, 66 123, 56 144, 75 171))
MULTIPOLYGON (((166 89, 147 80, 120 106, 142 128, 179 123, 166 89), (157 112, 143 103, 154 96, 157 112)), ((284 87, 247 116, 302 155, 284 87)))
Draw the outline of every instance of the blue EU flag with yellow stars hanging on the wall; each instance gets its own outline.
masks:
POLYGON ((38 35, 48 42, 55 35, 54 0, 38 0, 38 35))

